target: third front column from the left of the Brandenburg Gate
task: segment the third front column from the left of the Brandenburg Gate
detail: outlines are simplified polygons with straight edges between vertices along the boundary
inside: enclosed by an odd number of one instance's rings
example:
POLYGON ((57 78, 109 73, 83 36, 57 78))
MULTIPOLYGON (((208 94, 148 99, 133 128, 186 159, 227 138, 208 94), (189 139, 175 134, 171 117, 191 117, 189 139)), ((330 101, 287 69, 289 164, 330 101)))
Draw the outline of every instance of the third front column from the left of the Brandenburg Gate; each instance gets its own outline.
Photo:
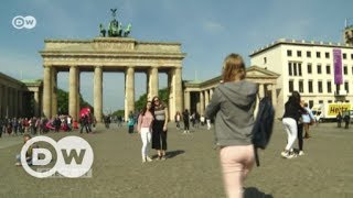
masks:
POLYGON ((94 74, 94 108, 97 122, 103 118, 103 67, 95 67, 94 74))

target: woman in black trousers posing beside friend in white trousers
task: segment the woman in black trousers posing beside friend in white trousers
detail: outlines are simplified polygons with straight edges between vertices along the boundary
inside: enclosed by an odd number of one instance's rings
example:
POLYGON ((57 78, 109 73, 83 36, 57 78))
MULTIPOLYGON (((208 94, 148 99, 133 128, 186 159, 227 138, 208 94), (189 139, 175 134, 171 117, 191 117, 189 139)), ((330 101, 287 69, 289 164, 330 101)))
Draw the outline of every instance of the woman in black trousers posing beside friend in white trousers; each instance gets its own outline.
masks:
POLYGON ((153 97, 152 102, 154 114, 152 148, 157 150, 158 160, 165 160, 168 108, 158 97, 153 97))

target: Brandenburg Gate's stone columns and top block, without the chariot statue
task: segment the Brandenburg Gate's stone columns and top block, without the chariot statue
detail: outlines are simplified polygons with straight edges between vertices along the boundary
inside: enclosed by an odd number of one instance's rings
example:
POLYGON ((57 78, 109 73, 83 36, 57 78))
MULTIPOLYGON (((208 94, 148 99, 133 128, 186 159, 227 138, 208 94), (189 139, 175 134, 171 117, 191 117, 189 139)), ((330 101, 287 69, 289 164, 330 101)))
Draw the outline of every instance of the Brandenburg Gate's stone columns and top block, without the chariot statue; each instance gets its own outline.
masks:
MULTIPOLYGON (((125 73, 125 119, 135 112, 135 73, 147 74, 147 94, 158 96, 159 73, 168 74, 169 112, 183 110, 182 59, 180 43, 141 42, 130 37, 94 40, 45 40, 41 51, 44 66, 43 113, 57 114, 57 73, 69 73, 68 113, 79 118, 79 74, 94 73, 94 116, 103 118, 103 74, 125 73)), ((170 117, 173 118, 173 117, 170 117)))

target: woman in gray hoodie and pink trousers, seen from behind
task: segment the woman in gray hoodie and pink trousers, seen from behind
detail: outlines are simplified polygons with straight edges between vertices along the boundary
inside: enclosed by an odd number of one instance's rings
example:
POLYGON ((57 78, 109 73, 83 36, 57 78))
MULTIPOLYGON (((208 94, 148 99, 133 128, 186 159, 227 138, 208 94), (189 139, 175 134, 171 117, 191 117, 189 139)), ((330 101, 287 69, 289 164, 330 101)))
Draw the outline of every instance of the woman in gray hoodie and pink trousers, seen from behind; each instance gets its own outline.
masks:
POLYGON ((243 182, 254 165, 252 144, 254 109, 258 85, 244 80, 245 64, 238 54, 229 54, 223 66, 223 82, 215 89, 206 117, 215 119, 215 143, 225 191, 228 197, 243 197, 243 182))

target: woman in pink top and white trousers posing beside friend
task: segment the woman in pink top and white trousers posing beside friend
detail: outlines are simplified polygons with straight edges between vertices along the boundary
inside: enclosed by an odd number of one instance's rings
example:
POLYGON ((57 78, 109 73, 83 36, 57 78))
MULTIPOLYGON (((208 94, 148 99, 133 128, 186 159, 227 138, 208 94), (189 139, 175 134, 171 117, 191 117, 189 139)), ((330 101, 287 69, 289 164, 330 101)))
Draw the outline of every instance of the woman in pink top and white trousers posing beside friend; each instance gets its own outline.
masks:
POLYGON ((146 107, 138 118, 137 131, 141 135, 142 140, 142 163, 151 162, 152 160, 148 156, 148 145, 151 142, 151 129, 153 122, 152 114, 152 102, 147 101, 146 107))

